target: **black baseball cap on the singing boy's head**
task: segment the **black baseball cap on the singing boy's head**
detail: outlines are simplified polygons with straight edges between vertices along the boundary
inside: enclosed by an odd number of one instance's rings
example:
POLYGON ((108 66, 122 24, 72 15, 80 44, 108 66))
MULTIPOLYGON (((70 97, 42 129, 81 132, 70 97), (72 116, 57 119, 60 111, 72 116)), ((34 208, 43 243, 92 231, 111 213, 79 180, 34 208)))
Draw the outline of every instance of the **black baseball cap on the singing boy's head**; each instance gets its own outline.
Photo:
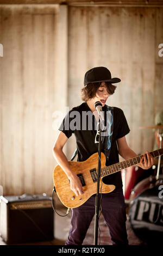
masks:
POLYGON ((92 68, 85 73, 84 86, 86 86, 88 83, 96 82, 119 83, 121 82, 121 79, 117 77, 111 78, 109 69, 105 68, 104 66, 97 66, 96 68, 92 68))

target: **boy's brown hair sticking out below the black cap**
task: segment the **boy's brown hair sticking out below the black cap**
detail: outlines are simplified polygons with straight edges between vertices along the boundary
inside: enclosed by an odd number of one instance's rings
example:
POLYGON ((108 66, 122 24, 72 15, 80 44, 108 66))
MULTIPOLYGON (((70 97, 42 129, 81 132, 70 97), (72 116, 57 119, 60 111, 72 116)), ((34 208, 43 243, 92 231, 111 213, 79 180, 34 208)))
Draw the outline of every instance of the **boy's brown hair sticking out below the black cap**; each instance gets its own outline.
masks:
MULTIPOLYGON (((92 99, 93 97, 96 96, 97 89, 101 86, 102 82, 97 82, 97 83, 88 83, 85 87, 82 88, 82 95, 81 99, 83 101, 87 101, 89 99, 92 99)), ((116 86, 113 84, 110 84, 109 82, 105 82, 108 93, 114 94, 116 86)))

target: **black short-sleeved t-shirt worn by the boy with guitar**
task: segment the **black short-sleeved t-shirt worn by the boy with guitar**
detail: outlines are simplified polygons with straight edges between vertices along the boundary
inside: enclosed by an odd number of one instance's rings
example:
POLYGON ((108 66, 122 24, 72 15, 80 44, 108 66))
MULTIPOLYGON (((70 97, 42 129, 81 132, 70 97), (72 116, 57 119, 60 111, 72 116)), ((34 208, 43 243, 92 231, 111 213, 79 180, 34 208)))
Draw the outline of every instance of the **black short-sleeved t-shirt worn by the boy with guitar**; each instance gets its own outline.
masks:
MULTIPOLYGON (((102 108, 102 111, 106 113, 106 105, 102 108)), ((97 120, 86 102, 72 108, 59 127, 59 130, 64 132, 67 138, 70 138, 72 133, 74 133, 77 143, 78 161, 80 162, 87 160, 92 154, 98 152, 98 143, 95 143, 96 127, 97 120)), ((116 140, 126 136, 130 131, 122 109, 117 107, 114 107, 113 127, 110 157, 109 161, 106 161, 106 166, 119 162, 116 140)), ((105 143, 102 143, 101 150, 103 153, 104 148, 105 143)), ((103 182, 115 185, 116 188, 122 188, 121 172, 105 176, 103 182)))

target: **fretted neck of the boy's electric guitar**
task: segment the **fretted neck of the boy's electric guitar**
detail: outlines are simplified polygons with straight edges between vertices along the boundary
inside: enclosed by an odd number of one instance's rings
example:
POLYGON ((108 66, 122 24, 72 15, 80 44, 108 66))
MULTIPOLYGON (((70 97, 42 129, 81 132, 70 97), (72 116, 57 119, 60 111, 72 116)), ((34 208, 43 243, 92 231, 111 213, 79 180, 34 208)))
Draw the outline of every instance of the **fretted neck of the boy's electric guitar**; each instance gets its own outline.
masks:
MULTIPOLYGON (((150 154, 153 157, 163 155, 163 148, 154 150, 154 151, 150 152, 150 154)), ((106 166, 106 167, 101 168, 101 177, 110 175, 112 173, 120 172, 120 170, 123 170, 130 166, 135 166, 136 164, 139 164, 142 156, 143 155, 135 156, 129 160, 122 161, 119 163, 112 164, 111 166, 106 166)))

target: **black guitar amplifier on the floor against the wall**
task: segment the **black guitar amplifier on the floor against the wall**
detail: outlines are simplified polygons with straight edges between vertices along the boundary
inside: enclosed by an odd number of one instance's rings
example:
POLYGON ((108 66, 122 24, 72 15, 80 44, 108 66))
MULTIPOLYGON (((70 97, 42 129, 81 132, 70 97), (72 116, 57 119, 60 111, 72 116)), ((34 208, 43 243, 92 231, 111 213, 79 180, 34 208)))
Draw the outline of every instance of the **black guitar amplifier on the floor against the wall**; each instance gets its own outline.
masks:
POLYGON ((8 244, 54 239, 52 198, 46 194, 1 196, 0 233, 8 244))

